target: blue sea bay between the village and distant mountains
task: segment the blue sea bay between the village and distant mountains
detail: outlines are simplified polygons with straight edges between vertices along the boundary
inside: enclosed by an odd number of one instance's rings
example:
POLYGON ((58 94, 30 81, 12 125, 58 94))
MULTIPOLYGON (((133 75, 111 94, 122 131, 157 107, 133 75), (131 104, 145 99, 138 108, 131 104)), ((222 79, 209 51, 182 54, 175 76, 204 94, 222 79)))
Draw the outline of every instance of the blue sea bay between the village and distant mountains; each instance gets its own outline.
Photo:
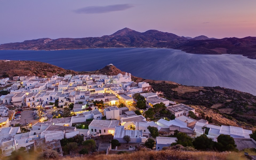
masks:
POLYGON ((113 63, 145 79, 193 86, 221 86, 256 95, 256 59, 242 55, 189 54, 174 49, 110 48, 57 51, 0 50, 0 59, 47 62, 75 71, 113 63))

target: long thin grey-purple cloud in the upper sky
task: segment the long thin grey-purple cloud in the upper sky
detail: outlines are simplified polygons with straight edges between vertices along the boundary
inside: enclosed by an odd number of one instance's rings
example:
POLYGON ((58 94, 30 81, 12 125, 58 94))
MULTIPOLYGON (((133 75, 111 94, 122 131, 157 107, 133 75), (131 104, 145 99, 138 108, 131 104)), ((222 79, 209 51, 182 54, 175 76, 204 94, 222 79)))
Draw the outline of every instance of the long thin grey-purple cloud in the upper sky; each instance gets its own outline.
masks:
POLYGON ((132 4, 109 5, 109 6, 89 6, 74 10, 75 13, 95 14, 95 13, 108 13, 114 11, 123 11, 134 7, 132 4))

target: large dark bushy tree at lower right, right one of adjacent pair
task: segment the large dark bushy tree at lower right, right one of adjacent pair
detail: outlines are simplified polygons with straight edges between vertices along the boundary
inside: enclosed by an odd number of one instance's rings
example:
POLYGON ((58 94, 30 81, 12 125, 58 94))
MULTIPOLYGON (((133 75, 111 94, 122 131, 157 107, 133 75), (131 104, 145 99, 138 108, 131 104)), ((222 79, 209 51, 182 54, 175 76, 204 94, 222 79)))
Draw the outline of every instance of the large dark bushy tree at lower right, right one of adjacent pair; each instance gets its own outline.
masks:
POLYGON ((235 148, 237 145, 235 144, 234 138, 230 135, 221 134, 217 138, 217 141, 215 146, 219 151, 238 151, 238 149, 235 148))

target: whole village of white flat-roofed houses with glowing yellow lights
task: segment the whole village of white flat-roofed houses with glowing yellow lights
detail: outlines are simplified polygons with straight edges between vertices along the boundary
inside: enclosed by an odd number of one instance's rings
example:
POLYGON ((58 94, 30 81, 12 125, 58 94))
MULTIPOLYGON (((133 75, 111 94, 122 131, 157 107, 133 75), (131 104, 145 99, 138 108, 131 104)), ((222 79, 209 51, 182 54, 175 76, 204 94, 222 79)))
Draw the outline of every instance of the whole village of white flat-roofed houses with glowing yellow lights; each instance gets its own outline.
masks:
MULTIPOLYGON (((6 89, 8 94, 0 97, 2 156, 43 147, 63 156, 71 150, 63 148, 63 139, 78 136, 83 144, 94 139, 94 151, 106 154, 118 151, 120 143, 144 144, 152 137, 155 142, 149 148, 162 150, 177 142, 178 133, 190 138, 206 135, 213 142, 221 134, 230 135, 239 150, 256 147, 251 130, 199 118, 195 109, 154 93, 149 83, 133 82, 130 73, 14 76, 0 81, 1 85, 8 82, 12 84, 6 89), (108 141, 99 141, 104 136, 109 136, 108 141), (118 144, 113 146, 115 140, 118 144)), ((123 150, 135 148, 130 145, 123 150)))

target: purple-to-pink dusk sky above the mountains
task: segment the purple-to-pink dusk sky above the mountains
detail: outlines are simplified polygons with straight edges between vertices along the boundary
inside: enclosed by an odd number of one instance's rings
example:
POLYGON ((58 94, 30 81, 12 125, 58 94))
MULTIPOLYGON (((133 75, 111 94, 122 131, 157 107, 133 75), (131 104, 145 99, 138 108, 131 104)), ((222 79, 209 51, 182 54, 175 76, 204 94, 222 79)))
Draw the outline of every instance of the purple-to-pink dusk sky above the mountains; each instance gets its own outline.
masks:
POLYGON ((0 44, 101 37, 125 27, 185 37, 256 37, 256 1, 0 0, 0 44))

